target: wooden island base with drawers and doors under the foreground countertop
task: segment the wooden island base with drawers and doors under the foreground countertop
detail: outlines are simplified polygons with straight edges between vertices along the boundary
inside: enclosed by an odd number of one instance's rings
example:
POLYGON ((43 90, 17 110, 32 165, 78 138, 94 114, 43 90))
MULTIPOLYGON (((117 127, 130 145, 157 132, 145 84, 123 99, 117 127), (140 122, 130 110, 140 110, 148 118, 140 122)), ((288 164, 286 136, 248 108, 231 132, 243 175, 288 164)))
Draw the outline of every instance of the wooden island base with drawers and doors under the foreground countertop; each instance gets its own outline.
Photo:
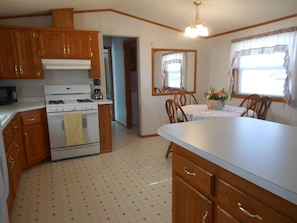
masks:
POLYGON ((297 205, 173 144, 174 223, 293 223, 297 205))

